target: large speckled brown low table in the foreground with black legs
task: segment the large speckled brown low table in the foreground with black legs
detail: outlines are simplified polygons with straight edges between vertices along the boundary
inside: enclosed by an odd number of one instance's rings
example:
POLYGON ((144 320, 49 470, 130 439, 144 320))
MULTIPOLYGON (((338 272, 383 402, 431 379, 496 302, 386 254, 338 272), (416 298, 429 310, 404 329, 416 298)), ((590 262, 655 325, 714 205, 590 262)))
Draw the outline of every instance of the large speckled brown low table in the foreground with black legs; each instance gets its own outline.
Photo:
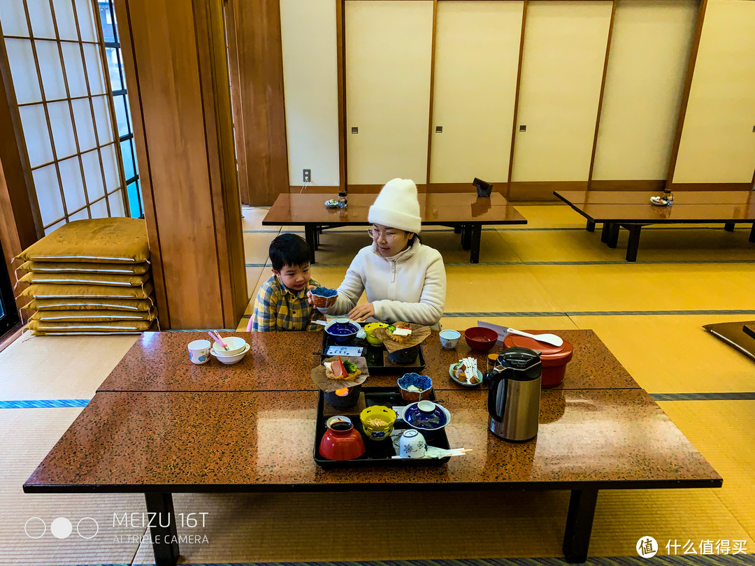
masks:
POLYGON ((313 460, 318 393, 301 375, 319 363, 311 348, 320 333, 252 334, 248 363, 234 366, 191 365, 192 333, 146 333, 23 490, 145 494, 148 513, 164 518, 150 527, 158 566, 180 552, 174 493, 570 490, 562 548, 582 562, 599 490, 716 488, 723 479, 592 331, 558 332, 575 358, 562 386, 542 392, 534 440, 488 432, 486 389, 445 378, 468 349, 442 350, 433 334, 425 373, 451 411, 451 444, 472 451, 440 467, 327 471, 313 460))

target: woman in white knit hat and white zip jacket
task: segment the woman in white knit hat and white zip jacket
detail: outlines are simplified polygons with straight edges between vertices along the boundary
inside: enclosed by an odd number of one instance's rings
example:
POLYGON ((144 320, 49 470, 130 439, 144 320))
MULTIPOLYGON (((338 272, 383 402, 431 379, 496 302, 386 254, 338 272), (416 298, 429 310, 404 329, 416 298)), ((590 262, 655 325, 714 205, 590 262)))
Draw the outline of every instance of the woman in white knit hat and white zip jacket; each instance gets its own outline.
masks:
POLYGON ((416 322, 440 328, 445 307, 445 266, 439 252, 422 245, 417 186, 408 179, 385 184, 370 207, 372 245, 359 250, 326 315, 348 313, 364 321, 416 322), (367 292, 367 303, 356 302, 367 292))

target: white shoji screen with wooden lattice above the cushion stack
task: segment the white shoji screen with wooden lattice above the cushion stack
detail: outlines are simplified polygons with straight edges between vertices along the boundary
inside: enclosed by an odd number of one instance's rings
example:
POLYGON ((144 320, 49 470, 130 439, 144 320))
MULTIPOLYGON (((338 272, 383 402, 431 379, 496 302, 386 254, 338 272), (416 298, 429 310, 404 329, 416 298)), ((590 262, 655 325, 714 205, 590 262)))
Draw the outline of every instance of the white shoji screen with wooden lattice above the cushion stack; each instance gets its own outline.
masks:
POLYGON ((125 214, 95 17, 91 0, 0 2, 10 88, 45 233, 69 220, 125 214))

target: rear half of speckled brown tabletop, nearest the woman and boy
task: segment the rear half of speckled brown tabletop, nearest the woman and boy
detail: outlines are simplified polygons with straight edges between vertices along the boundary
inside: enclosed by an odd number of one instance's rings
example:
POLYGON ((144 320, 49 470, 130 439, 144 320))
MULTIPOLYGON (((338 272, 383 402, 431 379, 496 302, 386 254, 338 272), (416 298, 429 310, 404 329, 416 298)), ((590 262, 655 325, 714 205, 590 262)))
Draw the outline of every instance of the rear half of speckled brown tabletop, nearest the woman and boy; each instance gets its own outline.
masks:
MULTIPOLYGON (((633 389, 639 385, 605 344, 590 330, 548 331, 569 340, 574 357, 566 366, 564 382, 558 389, 633 389)), ((223 365, 215 358, 205 365, 189 361, 186 344, 202 340, 201 332, 145 332, 126 352, 98 391, 297 391, 316 390, 310 371, 319 364, 322 332, 238 332, 251 344, 245 358, 236 365, 223 365)), ((451 380, 448 366, 470 355, 470 348, 459 341, 457 349, 440 346, 433 332, 422 346, 425 369, 436 390, 464 389, 451 380)), ((501 352, 495 346, 493 353, 501 352)), ((485 355, 474 355, 485 371, 485 355)), ((390 374, 372 374, 369 386, 396 386, 405 373, 396 368, 390 374)))

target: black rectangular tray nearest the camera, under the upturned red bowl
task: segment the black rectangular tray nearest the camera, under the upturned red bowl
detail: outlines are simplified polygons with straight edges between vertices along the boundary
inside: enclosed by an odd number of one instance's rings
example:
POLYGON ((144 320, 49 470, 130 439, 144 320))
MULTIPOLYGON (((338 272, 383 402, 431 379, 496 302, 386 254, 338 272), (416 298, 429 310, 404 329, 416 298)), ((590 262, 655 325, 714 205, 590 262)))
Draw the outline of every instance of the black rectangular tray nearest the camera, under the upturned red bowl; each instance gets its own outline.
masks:
MULTIPOLYGON (((384 407, 398 407, 403 405, 409 405, 401 397, 398 387, 362 387, 362 392, 365 394, 365 402, 368 407, 373 405, 383 405, 384 407)), ((430 400, 435 400, 435 392, 430 394, 430 400)), ((365 442, 366 452, 359 458, 354 460, 328 460, 320 456, 320 440, 322 435, 325 434, 327 428, 325 427, 325 421, 327 420, 322 415, 322 410, 325 405, 325 394, 320 392, 319 401, 317 401, 317 426, 315 429, 315 449, 313 457, 315 462, 322 466, 324 469, 331 468, 353 468, 364 466, 442 466, 444 463, 451 460, 450 456, 444 458, 396 458, 396 449, 393 448, 393 442, 390 439, 386 440, 371 440, 367 438, 362 432, 362 422, 359 417, 349 417, 354 423, 354 428, 362 435, 362 440, 365 442)), ((329 417, 328 417, 329 418, 329 417)), ((396 424, 393 426, 394 430, 404 430, 410 428, 403 420, 396 420, 396 424)), ((451 448, 448 444, 448 436, 445 435, 445 429, 440 429, 433 435, 430 440, 427 441, 430 446, 436 446, 437 448, 445 448, 448 450, 451 448)))

